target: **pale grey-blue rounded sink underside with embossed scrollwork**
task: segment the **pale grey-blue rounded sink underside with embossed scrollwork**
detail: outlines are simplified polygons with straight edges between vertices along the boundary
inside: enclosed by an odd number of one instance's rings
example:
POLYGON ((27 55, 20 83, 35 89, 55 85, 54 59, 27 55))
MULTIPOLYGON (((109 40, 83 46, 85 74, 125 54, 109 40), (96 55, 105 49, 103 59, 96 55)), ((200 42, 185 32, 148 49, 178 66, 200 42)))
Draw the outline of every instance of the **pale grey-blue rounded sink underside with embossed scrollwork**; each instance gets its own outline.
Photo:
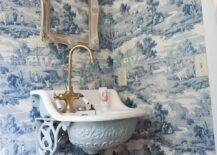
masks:
POLYGON ((71 123, 68 127, 69 140, 88 154, 119 145, 133 134, 137 119, 106 122, 71 123))

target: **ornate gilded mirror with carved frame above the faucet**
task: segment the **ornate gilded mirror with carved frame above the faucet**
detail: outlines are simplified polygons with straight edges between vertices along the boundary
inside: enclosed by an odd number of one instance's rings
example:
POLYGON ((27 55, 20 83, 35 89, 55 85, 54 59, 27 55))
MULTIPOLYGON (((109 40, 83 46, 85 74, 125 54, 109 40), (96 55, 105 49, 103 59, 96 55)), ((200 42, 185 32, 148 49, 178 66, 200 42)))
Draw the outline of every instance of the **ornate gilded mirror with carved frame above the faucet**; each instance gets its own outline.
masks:
POLYGON ((98 0, 87 0, 88 4, 85 3, 85 1, 79 1, 80 4, 74 5, 75 8, 77 6, 77 9, 72 10, 71 5, 75 4, 75 2, 77 1, 41 0, 42 41, 65 44, 70 48, 81 43, 89 46, 93 50, 97 50, 99 48, 98 0), (82 8, 83 4, 84 6, 82 8), (55 7, 58 9, 55 10, 55 7), (61 9, 63 11, 61 11, 61 9), (78 19, 75 19, 75 17, 78 19), (84 19, 82 19, 82 17, 84 17, 84 19), (80 22, 80 25, 76 24, 74 21, 80 22))

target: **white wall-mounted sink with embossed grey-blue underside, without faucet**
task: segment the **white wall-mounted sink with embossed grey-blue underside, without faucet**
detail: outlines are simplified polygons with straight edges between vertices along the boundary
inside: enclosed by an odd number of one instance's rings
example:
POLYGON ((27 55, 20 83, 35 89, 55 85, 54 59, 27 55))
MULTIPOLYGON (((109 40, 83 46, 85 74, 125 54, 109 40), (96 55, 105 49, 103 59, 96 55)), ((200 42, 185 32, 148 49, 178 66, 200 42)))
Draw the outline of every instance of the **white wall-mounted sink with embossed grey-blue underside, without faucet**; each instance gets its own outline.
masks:
POLYGON ((63 92, 35 90, 31 95, 39 105, 41 117, 68 123, 66 131, 70 142, 88 154, 96 154, 99 150, 125 142, 132 136, 137 119, 148 115, 144 110, 125 106, 113 89, 108 90, 110 107, 106 111, 102 110, 98 90, 79 90, 76 92, 82 93, 93 104, 96 114, 82 116, 76 113, 59 113, 52 103, 53 94, 63 92))

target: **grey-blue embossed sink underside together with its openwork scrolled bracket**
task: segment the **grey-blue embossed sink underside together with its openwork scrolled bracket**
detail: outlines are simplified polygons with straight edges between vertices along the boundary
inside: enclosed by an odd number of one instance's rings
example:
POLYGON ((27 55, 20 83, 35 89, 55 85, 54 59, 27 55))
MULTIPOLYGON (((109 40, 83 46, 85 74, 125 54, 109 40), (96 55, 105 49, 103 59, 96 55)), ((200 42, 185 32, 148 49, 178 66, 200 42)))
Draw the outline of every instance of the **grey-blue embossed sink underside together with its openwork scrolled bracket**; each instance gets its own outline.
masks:
POLYGON ((97 154, 100 150, 127 141, 135 130, 137 118, 89 123, 58 122, 49 118, 38 118, 36 122, 37 154, 54 154, 61 130, 68 134, 73 145, 88 154, 97 154))

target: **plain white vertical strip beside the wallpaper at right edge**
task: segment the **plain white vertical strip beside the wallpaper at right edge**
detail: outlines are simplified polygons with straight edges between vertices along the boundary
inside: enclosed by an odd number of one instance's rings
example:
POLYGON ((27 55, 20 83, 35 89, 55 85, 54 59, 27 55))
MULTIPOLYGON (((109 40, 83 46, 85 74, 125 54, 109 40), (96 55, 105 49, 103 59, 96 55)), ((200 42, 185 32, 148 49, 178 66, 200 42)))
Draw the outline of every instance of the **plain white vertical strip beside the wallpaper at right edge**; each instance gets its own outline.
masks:
MULTIPOLYGON (((213 120, 217 120, 217 98, 216 98, 216 90, 217 90, 217 72, 215 66, 217 65, 216 61, 216 35, 217 35, 217 18, 216 18, 216 0, 213 1, 202 1, 203 5, 203 16, 204 16, 204 27, 206 32, 206 46, 207 46, 207 59, 208 59, 208 67, 209 67, 209 80, 210 80, 210 90, 212 97, 212 111, 213 111, 213 120)), ((217 123, 214 123, 214 133, 217 134, 217 123)), ((215 136, 215 143, 217 143, 217 136, 215 136)), ((217 147, 217 146, 216 146, 217 147)))

